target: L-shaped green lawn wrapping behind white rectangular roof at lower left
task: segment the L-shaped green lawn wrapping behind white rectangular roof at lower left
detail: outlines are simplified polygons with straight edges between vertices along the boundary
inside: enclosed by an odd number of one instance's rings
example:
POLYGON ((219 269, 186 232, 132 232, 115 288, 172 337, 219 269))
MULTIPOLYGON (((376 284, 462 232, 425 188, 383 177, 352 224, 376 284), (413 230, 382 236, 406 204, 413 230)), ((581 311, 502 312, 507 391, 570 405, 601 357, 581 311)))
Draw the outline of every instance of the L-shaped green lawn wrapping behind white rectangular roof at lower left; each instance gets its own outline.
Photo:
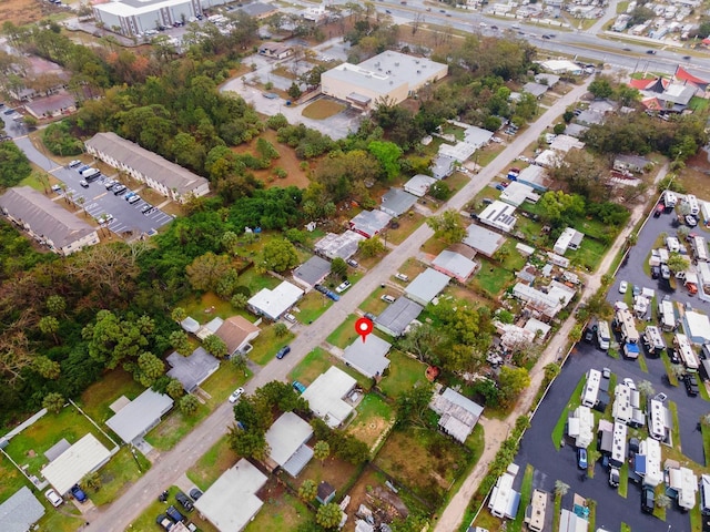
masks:
POLYGON ((27 466, 28 474, 40 475, 42 467, 48 463, 44 457, 45 451, 62 439, 69 443, 75 443, 88 433, 95 436, 106 449, 113 448, 113 444, 85 417, 74 407, 69 406, 57 415, 47 413, 12 438, 4 451, 20 467, 27 466))

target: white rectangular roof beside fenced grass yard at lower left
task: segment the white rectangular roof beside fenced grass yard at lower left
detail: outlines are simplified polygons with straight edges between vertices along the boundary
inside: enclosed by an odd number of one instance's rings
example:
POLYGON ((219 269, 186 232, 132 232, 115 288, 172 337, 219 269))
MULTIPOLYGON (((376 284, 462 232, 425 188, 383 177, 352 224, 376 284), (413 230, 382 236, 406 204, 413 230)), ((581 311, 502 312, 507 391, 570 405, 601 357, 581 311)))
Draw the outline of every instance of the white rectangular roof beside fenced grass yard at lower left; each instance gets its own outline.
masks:
POLYGON ((60 495, 88 473, 98 470, 111 458, 111 452, 95 436, 89 433, 42 469, 42 475, 60 495))

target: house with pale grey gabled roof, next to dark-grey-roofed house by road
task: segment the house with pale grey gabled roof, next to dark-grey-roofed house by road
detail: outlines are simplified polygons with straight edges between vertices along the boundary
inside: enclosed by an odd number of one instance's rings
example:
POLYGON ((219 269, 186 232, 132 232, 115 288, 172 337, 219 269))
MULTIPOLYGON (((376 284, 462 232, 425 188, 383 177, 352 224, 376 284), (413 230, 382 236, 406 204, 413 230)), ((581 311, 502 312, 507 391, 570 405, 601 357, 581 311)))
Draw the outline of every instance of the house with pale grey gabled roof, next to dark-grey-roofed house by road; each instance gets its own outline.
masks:
POLYGON ((160 423, 160 418, 171 408, 173 408, 172 398, 149 388, 119 410, 106 421, 106 424, 125 443, 131 443, 160 423))

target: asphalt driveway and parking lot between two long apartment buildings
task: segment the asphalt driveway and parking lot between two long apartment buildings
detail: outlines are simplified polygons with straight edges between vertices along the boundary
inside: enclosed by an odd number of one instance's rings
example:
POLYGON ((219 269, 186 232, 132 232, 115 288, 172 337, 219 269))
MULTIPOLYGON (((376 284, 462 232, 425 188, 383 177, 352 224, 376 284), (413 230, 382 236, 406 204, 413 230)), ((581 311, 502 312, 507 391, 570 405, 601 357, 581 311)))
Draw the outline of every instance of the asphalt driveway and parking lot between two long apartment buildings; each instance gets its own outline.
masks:
POLYGON ((103 184, 104 178, 94 181, 89 184, 88 188, 83 188, 79 185, 82 180, 81 175, 74 170, 57 164, 43 149, 38 150, 27 135, 27 129, 23 124, 14 122, 10 115, 4 113, 0 114, 0 116, 4 122, 6 132, 13 137, 18 147, 24 152, 33 164, 63 182, 67 187, 67 194, 71 195, 71 200, 77 205, 81 205, 88 215, 94 218, 104 214, 113 215, 113 219, 104 224, 103 227, 108 227, 118 235, 126 232, 135 235, 141 233, 150 234, 173 221, 171 215, 163 213, 159 208, 153 209, 149 215, 142 214, 141 207, 145 205, 143 200, 129 204, 124 196, 115 196, 110 191, 106 191, 103 184), (82 201, 83 205, 81 204, 82 201))

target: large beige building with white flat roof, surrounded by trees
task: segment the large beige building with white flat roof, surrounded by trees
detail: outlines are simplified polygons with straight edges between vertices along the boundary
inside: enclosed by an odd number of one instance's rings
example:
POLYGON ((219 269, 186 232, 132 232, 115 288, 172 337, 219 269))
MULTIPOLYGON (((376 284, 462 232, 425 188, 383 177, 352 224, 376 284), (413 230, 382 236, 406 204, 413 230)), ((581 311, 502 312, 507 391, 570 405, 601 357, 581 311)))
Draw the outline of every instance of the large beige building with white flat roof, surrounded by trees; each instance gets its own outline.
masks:
POLYGON ((323 94, 359 109, 387 100, 399 103, 448 73, 448 66, 426 58, 387 51, 359 64, 343 63, 321 76, 323 94))

